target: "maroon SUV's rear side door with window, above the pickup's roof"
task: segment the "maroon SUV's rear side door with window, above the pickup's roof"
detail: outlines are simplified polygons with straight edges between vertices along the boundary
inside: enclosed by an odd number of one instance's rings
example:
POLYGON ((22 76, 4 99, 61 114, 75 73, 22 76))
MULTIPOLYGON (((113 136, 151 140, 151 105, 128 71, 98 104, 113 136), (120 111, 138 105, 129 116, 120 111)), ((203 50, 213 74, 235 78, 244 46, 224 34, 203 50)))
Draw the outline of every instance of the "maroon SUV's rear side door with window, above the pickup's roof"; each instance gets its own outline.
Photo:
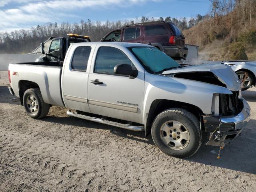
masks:
POLYGON ((142 43, 144 40, 143 27, 142 26, 133 26, 124 28, 122 35, 123 42, 130 43, 142 43))

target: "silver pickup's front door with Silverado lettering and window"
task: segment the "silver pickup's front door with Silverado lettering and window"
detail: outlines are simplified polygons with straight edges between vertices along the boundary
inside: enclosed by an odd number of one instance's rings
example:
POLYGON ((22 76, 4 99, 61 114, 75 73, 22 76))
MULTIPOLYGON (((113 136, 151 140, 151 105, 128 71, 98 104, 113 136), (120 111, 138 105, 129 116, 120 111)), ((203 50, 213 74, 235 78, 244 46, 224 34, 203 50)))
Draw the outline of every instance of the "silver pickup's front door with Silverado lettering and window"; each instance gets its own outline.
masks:
POLYGON ((136 78, 116 75, 117 64, 130 64, 136 69, 128 56, 114 47, 98 45, 96 51, 88 79, 91 113, 141 123, 144 71, 138 71, 136 78))

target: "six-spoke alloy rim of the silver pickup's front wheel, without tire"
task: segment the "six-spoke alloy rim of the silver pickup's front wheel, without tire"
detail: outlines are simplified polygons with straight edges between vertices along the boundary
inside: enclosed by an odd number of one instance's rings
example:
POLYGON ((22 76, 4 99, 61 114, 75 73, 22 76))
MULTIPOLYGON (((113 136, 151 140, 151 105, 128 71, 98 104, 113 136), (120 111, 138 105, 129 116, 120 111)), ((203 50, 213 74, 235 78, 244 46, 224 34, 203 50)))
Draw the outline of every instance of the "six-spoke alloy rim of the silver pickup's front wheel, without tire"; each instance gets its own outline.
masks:
POLYGON ((160 138, 169 148, 184 149, 190 140, 188 129, 178 121, 167 121, 160 128, 160 138))

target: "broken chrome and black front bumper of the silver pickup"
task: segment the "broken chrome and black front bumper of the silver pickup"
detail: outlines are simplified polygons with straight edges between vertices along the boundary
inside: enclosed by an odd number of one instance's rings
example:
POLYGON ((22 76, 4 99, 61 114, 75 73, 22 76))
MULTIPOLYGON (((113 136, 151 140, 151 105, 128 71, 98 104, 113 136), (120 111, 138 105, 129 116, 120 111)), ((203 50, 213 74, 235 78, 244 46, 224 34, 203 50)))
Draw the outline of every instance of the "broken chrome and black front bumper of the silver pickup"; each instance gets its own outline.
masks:
POLYGON ((203 116, 204 128, 210 132, 209 142, 206 145, 223 146, 230 139, 236 138, 250 120, 250 106, 241 99, 242 111, 236 116, 213 117, 203 116))

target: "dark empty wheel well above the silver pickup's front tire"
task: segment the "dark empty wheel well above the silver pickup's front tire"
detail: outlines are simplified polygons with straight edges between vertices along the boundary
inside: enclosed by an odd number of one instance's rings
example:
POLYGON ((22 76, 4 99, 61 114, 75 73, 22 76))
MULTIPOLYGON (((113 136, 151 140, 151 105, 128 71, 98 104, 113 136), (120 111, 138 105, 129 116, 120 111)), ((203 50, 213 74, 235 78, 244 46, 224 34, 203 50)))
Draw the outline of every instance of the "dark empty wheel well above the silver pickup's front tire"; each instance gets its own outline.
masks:
MULTIPOLYGON (((152 102, 150 106, 150 110, 148 113, 148 118, 146 122, 146 135, 150 132, 152 123, 156 116, 169 108, 182 108, 187 110, 188 112, 194 114, 198 120, 202 121, 201 116, 204 114, 200 108, 194 106, 192 104, 174 101, 174 100, 165 100, 165 99, 157 99, 152 102)), ((203 125, 203 124, 202 124, 203 125)), ((204 128, 203 128, 204 129, 204 128)))

